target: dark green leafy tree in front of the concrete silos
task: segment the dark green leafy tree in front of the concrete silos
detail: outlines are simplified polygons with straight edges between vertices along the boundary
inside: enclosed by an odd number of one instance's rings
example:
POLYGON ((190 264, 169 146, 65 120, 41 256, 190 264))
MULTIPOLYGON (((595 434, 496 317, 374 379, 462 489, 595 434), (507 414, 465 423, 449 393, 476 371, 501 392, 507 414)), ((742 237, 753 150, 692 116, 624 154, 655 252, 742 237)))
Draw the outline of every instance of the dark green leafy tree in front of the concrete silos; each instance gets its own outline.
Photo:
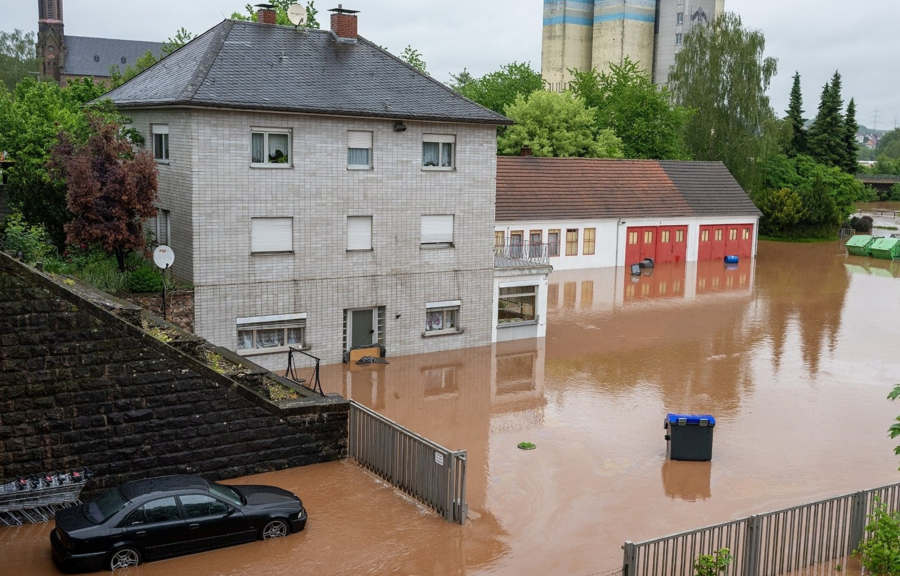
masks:
POLYGON ((609 128, 622 140, 626 158, 687 160, 681 137, 691 111, 674 106, 637 62, 626 57, 609 72, 576 71, 570 84, 595 109, 597 130, 609 128))

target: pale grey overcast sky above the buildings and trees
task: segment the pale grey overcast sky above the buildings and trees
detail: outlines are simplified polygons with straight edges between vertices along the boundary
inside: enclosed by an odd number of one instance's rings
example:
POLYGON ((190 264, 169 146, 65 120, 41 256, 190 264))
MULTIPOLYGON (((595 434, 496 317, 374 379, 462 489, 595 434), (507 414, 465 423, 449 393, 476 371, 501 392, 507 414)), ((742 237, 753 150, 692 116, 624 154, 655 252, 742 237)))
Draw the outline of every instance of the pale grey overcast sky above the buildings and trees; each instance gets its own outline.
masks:
MULTIPOLYGON (((258 3, 261 0, 253 0, 258 3)), ((360 10, 359 31, 399 54, 417 48, 428 71, 446 82, 467 68, 480 76, 512 62, 540 69, 541 0, 340 0, 360 10)), ((202 32, 247 0, 63 0, 66 32, 162 41, 180 27, 202 32)), ((319 22, 337 1, 316 0, 319 22)), ((38 0, 0 0, 0 30, 37 30, 38 0)), ((855 97, 860 124, 900 123, 900 0, 725 0, 746 26, 761 29, 766 51, 778 58, 769 95, 783 115, 794 71, 803 83, 807 117, 815 116, 822 87, 835 70, 845 101, 855 97)), ((900 124, 896 124, 900 125, 900 124)))

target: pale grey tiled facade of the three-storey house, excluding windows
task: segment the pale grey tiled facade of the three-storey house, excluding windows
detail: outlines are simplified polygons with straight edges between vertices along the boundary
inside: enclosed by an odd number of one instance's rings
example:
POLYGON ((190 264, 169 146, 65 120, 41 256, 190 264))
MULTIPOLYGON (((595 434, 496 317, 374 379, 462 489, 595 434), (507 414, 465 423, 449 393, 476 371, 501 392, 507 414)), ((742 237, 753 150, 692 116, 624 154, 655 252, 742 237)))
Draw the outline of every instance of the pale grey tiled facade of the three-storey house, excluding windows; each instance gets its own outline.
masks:
MULTIPOLYGON (((174 273, 196 290, 198 335, 238 347, 237 318, 306 314, 309 353, 345 351, 344 311, 384 308, 391 356, 491 343, 496 130, 491 125, 202 109, 129 110, 151 147, 169 125, 159 207, 174 273), (251 129, 289 130, 288 167, 250 166, 251 129), (372 168, 347 167, 347 132, 372 132, 372 168), (423 134, 455 136, 453 170, 422 167, 423 134), (453 246, 420 245, 422 215, 454 216, 453 246), (372 217, 372 250, 347 251, 347 217, 372 217), (251 254, 251 218, 293 219, 292 253, 251 254), (423 336, 426 303, 459 300, 461 333, 423 336)), ((284 369, 286 354, 254 356, 284 369)))

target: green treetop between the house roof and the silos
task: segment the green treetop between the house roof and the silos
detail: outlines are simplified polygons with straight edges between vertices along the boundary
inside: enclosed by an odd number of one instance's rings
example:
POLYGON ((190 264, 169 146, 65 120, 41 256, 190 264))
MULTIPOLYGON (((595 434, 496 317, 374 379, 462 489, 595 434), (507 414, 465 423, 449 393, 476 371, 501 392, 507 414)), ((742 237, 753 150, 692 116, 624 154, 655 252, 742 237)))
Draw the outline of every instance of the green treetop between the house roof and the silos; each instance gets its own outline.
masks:
POLYGON ((496 72, 485 74, 481 78, 472 78, 466 70, 458 76, 451 77, 451 88, 469 100, 500 114, 516 101, 517 96, 527 98, 532 92, 544 87, 541 73, 528 63, 506 64, 496 72))

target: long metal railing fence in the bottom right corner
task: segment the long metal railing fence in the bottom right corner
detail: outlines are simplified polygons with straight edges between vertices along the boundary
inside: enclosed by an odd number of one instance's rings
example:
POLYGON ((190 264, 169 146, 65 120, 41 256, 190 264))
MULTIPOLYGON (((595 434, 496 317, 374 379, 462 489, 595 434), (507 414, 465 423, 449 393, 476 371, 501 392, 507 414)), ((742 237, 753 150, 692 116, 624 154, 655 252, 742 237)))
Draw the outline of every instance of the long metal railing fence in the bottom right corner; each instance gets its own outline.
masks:
POLYGON ((778 576, 849 556, 880 501, 900 508, 900 484, 829 498, 672 536, 626 542, 623 574, 690 576, 701 554, 728 548, 732 576, 778 576))

